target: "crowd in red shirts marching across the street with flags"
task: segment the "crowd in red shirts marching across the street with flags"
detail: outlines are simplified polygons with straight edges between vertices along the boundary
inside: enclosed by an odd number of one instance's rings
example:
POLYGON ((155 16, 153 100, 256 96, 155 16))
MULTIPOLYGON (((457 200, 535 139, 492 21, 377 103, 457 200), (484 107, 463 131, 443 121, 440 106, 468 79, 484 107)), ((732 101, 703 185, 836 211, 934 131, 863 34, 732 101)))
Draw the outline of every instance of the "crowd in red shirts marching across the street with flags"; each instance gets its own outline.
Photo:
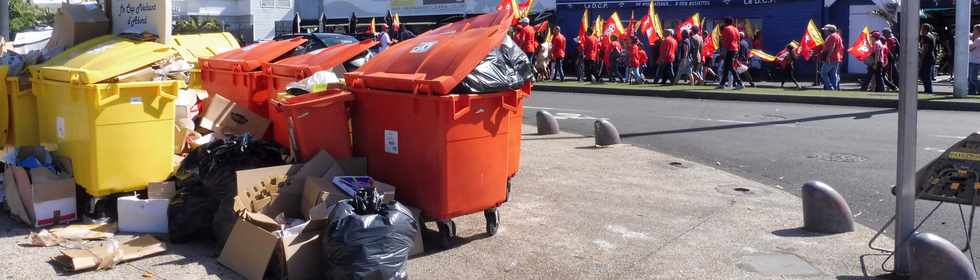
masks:
MULTIPOLYGON (((591 29, 591 28, 590 28, 591 29)), ((716 89, 739 90, 756 86, 754 78, 778 82, 780 87, 804 89, 797 76, 801 58, 809 58, 816 65, 818 77, 812 86, 828 91, 840 91, 841 64, 849 48, 833 24, 820 28, 823 44, 802 53, 798 42, 790 42, 779 52, 775 60, 766 61, 755 57, 751 51, 760 42, 746 36, 736 25, 734 18, 721 23, 717 50, 703 53, 701 50, 711 36, 695 25, 689 29, 664 30, 663 38, 653 44, 641 41, 637 34, 625 36, 597 36, 592 30, 583 38, 575 37, 571 43, 575 54, 566 55, 569 43, 557 26, 552 27, 550 41, 545 42, 541 32, 536 32, 527 18, 522 18, 513 30, 514 41, 521 46, 535 65, 536 79, 565 81, 566 60, 574 65, 576 81, 662 85, 706 85, 716 89), (647 51, 650 51, 648 53, 647 51), (755 76, 755 77, 754 77, 755 76)), ((761 31, 760 31, 761 32, 761 31)), ((860 78, 862 91, 898 91, 898 38, 890 29, 873 31, 868 36, 870 51, 863 58, 867 75, 860 78)), ((933 93, 936 78, 937 39, 934 28, 923 24, 918 38, 918 77, 925 93, 933 93)), ((980 89, 980 25, 974 27, 970 40, 971 76, 970 93, 980 89)), ((571 67, 570 67, 571 68, 571 67)))

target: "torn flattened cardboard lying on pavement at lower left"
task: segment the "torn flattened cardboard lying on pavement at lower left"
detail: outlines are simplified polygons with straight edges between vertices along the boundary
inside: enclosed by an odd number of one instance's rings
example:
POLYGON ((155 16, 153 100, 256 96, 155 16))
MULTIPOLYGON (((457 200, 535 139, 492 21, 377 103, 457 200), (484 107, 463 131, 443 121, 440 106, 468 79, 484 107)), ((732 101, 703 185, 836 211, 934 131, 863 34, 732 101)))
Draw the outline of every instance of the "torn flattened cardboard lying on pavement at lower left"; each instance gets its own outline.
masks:
POLYGON ((113 256, 118 254, 121 258, 120 263, 148 257, 154 254, 167 251, 167 246, 153 236, 144 235, 138 238, 123 242, 118 248, 118 252, 110 250, 109 245, 91 249, 71 249, 62 250, 61 255, 54 257, 55 262, 60 263, 71 271, 79 271, 90 268, 109 268, 115 263, 111 263, 113 256))

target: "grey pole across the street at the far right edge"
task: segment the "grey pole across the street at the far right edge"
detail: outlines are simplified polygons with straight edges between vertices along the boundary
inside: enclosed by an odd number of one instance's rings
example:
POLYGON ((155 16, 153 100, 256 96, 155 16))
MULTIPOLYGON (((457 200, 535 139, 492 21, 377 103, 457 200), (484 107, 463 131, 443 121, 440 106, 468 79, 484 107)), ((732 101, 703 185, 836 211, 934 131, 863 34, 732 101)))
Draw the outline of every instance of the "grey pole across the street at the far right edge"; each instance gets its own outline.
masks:
POLYGON ((955 46, 953 54, 953 93, 957 97, 964 97, 970 90, 969 76, 970 71, 970 12, 972 3, 970 0, 956 0, 956 31, 953 40, 955 46))

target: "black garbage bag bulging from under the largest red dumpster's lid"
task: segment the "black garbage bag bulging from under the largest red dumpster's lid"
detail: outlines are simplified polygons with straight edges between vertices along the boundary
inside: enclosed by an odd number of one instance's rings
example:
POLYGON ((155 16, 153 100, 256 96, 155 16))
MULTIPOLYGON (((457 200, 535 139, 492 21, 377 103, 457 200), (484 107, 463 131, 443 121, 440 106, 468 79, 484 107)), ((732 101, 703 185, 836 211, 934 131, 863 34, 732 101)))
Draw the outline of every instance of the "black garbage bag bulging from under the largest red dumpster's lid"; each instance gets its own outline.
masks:
POLYGON ((533 75, 531 60, 510 36, 504 36, 504 42, 490 51, 456 86, 456 92, 492 93, 518 89, 533 75))

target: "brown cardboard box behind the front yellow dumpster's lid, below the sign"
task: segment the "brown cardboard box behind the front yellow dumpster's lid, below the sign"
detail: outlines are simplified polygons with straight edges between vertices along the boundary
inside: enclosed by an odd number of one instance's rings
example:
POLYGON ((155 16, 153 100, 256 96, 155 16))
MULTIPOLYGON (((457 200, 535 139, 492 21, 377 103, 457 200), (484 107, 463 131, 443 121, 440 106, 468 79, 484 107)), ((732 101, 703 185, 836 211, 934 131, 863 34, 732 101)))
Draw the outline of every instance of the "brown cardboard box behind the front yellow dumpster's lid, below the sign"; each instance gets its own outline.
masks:
POLYGON ((109 18, 98 4, 64 3, 54 17, 54 33, 44 49, 61 52, 89 39, 109 34, 109 28, 109 18))

